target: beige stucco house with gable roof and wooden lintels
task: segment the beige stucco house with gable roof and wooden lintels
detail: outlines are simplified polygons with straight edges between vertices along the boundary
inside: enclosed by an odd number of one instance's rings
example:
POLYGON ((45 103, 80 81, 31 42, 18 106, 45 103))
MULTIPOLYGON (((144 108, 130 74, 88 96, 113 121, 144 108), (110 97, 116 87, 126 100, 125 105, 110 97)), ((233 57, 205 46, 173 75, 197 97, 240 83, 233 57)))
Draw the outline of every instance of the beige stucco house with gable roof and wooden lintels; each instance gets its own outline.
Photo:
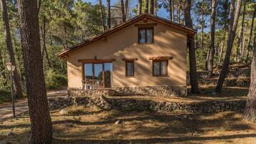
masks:
POLYGON ((186 95, 186 49, 194 30, 142 14, 58 54, 68 90, 186 95))

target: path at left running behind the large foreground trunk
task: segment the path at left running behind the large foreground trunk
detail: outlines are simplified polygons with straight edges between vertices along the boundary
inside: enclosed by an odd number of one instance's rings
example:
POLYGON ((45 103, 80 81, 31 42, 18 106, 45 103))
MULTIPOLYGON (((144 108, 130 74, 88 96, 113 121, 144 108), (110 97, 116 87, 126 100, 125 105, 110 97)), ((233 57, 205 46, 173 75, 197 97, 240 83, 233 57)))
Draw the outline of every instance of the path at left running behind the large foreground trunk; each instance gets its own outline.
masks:
MULTIPOLYGON (((47 92, 47 97, 54 97, 54 96, 65 96, 67 95, 66 90, 52 90, 47 92)), ((28 112, 27 106, 27 98, 23 100, 17 100, 15 102, 15 112, 16 115, 21 115, 24 112, 28 112)), ((11 102, 6 102, 0 105, 0 122, 12 117, 12 105, 11 102)))

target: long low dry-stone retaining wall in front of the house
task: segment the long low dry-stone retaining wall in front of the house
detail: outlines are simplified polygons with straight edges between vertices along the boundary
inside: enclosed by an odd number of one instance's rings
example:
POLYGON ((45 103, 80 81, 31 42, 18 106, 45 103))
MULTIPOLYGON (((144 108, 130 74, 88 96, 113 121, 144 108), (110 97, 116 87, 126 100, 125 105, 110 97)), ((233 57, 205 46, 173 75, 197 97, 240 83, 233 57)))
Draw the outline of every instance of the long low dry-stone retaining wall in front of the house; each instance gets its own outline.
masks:
POLYGON ((103 110, 116 108, 119 110, 151 110, 154 112, 168 112, 186 110, 188 112, 212 113, 224 111, 242 111, 245 100, 206 101, 206 102, 158 102, 153 100, 136 100, 132 98, 107 97, 49 97, 51 110, 62 109, 71 105, 96 105, 103 110))

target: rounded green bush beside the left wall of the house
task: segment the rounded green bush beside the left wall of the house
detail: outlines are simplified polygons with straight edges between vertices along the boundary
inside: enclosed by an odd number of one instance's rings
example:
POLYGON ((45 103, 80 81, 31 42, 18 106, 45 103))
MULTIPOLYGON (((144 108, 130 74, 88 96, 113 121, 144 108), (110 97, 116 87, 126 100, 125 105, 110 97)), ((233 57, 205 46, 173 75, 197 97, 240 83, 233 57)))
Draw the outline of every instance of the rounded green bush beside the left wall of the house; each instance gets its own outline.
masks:
POLYGON ((67 87, 67 77, 57 74, 52 69, 50 69, 45 73, 45 84, 47 90, 67 87))

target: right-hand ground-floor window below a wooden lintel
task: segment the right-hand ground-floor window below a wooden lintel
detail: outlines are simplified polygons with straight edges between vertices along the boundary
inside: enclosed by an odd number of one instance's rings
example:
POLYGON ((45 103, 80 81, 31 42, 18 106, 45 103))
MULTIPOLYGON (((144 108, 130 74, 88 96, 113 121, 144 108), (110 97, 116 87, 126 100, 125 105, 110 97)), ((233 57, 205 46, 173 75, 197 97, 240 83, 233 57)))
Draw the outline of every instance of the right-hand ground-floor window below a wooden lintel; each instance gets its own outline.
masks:
POLYGON ((167 74, 168 61, 153 61, 153 75, 161 76, 167 74))

